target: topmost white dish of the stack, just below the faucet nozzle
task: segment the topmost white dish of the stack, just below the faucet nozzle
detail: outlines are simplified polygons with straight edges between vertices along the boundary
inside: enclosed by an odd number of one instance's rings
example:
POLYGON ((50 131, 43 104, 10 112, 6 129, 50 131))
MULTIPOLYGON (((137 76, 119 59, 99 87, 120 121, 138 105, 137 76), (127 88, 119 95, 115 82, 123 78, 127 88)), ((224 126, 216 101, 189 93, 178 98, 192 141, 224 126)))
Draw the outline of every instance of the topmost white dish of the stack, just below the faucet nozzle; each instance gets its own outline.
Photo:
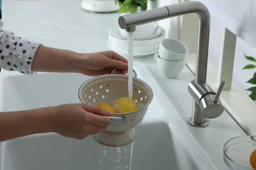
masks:
MULTIPOLYGON (((156 26, 156 27, 155 27, 155 34, 150 35, 150 36, 147 36, 147 37, 138 37, 138 36, 135 34, 135 33, 136 33, 136 31, 135 31, 135 32, 134 32, 134 41, 152 40, 152 39, 155 39, 155 38, 159 37, 162 32, 163 32, 163 28, 161 28, 160 26, 156 26)), ((127 37, 122 36, 122 34, 120 33, 119 26, 114 26, 114 27, 112 27, 112 28, 110 29, 110 34, 111 34, 113 37, 116 37, 116 38, 118 38, 118 39, 127 40, 127 37)))

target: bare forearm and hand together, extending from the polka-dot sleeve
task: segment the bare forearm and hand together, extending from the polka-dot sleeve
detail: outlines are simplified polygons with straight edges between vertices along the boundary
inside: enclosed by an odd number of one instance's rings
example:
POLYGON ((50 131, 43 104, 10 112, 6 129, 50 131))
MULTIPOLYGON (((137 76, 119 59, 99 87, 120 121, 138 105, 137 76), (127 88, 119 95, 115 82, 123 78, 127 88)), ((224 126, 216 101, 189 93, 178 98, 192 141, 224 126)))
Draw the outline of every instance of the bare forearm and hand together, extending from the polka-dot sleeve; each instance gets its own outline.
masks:
POLYGON ((40 45, 32 61, 35 72, 81 73, 88 76, 127 74, 128 60, 114 51, 76 53, 40 45))

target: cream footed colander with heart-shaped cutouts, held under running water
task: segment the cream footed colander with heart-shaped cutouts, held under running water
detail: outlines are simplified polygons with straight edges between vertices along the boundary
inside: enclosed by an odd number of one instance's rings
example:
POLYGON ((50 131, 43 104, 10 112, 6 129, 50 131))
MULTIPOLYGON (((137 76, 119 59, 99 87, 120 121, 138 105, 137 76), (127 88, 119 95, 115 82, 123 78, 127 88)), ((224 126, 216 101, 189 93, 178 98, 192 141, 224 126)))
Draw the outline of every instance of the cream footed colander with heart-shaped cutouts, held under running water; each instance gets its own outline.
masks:
MULTIPOLYGON (((94 134, 93 139, 100 144, 118 147, 134 141, 137 136, 136 126, 143 120, 148 105, 153 99, 149 85, 137 78, 134 71, 133 99, 139 109, 128 113, 113 113, 111 125, 105 131, 94 134)), ((112 72, 113 73, 113 72, 112 72)), ((88 105, 105 102, 111 104, 115 99, 128 97, 128 75, 107 74, 93 77, 84 82, 79 88, 79 99, 88 105)))

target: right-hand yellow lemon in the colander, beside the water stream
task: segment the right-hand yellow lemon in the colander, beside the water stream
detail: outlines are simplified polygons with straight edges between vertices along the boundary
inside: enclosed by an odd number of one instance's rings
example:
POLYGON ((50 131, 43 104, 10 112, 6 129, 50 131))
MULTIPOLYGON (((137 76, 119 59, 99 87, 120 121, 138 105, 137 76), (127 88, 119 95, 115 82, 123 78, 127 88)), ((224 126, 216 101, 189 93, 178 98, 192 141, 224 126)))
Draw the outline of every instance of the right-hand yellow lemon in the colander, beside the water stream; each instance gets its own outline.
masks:
POLYGON ((113 107, 116 109, 117 113, 128 113, 139 109, 136 102, 128 97, 120 97, 115 99, 113 102, 113 107))

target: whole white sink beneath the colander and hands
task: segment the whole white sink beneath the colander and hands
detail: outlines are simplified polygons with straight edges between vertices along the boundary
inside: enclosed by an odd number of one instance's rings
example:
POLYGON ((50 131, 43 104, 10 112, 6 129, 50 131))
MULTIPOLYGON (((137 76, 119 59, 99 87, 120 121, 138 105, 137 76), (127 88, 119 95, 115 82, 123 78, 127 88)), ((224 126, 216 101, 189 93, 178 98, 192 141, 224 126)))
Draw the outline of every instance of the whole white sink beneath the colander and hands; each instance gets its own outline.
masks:
MULTIPOLYGON (((131 170, 215 170, 145 65, 134 62, 134 68, 154 99, 137 126, 132 161, 132 144, 111 148, 91 136, 77 140, 48 133, 0 143, 1 170, 130 170, 130 161, 131 170)), ((80 103, 78 89, 88 78, 53 73, 4 77, 2 110, 80 103)))

